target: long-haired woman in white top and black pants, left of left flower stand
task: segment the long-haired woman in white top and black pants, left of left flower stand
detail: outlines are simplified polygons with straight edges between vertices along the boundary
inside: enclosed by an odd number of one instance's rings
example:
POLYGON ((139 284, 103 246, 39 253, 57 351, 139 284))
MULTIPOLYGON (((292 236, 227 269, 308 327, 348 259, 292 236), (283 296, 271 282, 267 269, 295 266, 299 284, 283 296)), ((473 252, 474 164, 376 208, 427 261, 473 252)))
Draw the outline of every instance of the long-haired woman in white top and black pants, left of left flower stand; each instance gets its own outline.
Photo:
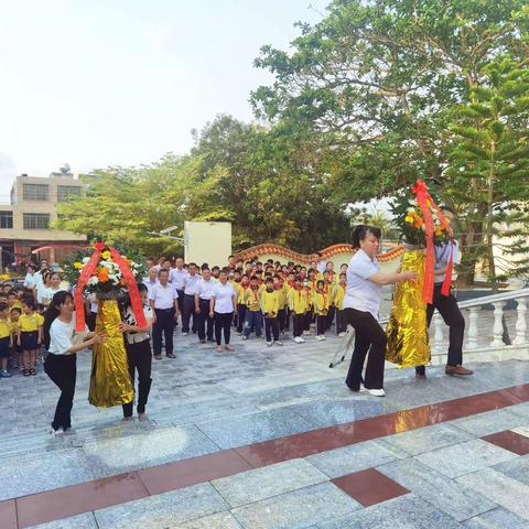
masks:
POLYGON ((48 354, 44 361, 44 370, 61 389, 52 433, 63 433, 72 428, 72 407, 74 403, 75 380, 77 375, 76 354, 95 344, 104 342, 104 337, 85 331, 75 332, 74 299, 65 291, 56 292, 44 314, 44 344, 48 354))

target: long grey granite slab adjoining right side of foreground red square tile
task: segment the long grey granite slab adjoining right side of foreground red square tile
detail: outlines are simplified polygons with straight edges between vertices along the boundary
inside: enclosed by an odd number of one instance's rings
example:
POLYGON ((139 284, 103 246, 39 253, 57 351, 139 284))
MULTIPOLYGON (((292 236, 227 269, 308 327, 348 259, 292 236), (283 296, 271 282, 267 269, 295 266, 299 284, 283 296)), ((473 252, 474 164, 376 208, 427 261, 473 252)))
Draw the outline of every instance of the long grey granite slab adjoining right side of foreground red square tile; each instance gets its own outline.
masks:
POLYGON ((479 494, 435 472, 414 457, 377 467, 417 496, 432 504, 457 521, 463 521, 496 507, 485 493, 479 494))

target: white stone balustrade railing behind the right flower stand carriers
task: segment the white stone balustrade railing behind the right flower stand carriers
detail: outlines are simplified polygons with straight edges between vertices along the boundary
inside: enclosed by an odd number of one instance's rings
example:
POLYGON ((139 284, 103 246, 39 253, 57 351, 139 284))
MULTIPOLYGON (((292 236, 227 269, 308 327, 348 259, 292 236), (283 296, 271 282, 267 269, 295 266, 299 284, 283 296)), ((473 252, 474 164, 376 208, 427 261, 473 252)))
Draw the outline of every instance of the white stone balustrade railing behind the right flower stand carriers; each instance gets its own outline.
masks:
MULTIPOLYGON (((529 360, 528 305, 529 289, 512 290, 458 303, 466 322, 464 361, 529 360), (507 304, 511 309, 506 310, 507 304), (508 345, 504 342, 506 335, 510 342, 508 345)), ((382 326, 387 323, 387 317, 380 320, 382 326)), ((438 312, 433 315, 430 326, 430 345, 431 364, 445 364, 449 327, 438 312)), ((353 347, 354 331, 349 327, 330 367, 338 365, 345 357, 350 357, 353 347)), ((396 366, 387 363, 386 367, 396 366)))

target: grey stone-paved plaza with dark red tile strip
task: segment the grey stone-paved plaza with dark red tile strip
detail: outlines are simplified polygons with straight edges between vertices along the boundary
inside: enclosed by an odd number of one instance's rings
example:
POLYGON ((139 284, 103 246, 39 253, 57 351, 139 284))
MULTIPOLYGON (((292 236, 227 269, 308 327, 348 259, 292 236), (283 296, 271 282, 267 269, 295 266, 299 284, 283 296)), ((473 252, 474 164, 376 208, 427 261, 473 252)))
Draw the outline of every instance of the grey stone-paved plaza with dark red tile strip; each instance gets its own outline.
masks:
POLYGON ((215 353, 176 332, 153 361, 149 420, 87 402, 48 433, 57 390, 0 380, 0 527, 41 529, 529 528, 529 363, 386 371, 385 399, 352 393, 338 338, 215 353))

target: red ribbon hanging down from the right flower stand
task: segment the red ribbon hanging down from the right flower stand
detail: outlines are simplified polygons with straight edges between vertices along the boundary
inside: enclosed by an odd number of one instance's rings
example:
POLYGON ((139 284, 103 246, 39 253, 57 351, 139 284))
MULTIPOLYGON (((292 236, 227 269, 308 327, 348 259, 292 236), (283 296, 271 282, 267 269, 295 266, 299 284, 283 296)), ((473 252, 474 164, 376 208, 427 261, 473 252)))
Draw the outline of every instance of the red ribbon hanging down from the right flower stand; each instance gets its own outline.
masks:
POLYGON ((441 222, 441 225, 443 226, 444 229, 446 229, 446 231, 450 235, 450 249, 451 249, 450 261, 446 268, 446 273, 444 276, 443 285, 441 288, 441 293, 444 296, 449 295, 450 284, 452 282, 453 253, 454 253, 453 252, 454 250, 453 233, 445 216, 442 214, 439 206, 433 202, 432 197, 428 193, 427 184, 422 180, 418 180, 417 185, 414 185, 411 191, 414 193, 417 197, 417 203, 419 204, 419 207, 422 212, 422 216, 424 218, 424 233, 425 233, 425 239, 427 239, 427 262, 425 262, 425 271, 424 271, 424 285, 422 290, 422 299, 424 300, 425 303, 432 303, 433 302, 433 283, 434 283, 434 274, 435 274, 435 249, 433 246, 434 226, 433 226, 432 212, 430 210, 430 207, 427 204, 427 202, 430 202, 430 204, 433 206, 433 208, 435 209, 436 216, 441 222))

